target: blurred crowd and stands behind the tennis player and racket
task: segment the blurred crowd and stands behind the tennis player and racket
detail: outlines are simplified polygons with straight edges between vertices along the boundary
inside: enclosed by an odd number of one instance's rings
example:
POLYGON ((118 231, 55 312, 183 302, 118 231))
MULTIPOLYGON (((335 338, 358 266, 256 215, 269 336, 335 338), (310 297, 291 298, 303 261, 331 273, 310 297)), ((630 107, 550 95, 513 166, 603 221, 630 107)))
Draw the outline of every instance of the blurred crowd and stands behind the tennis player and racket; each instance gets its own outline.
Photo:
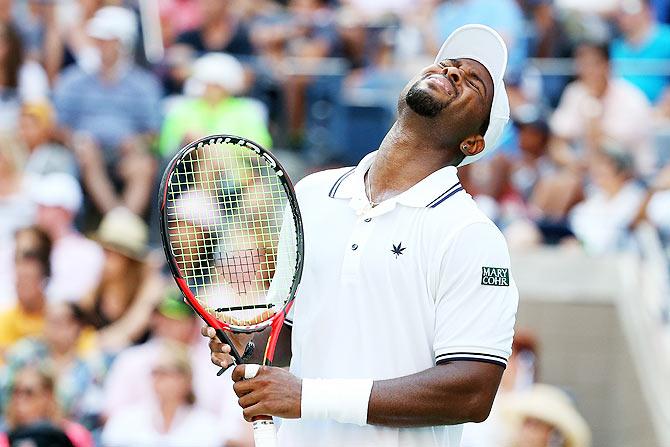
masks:
POLYGON ((521 300, 463 446, 670 446, 668 21, 670 0, 0 0, 0 447, 253 445, 166 275, 163 168, 211 133, 294 181, 356 164, 466 23, 510 50, 502 147, 459 176, 521 300))

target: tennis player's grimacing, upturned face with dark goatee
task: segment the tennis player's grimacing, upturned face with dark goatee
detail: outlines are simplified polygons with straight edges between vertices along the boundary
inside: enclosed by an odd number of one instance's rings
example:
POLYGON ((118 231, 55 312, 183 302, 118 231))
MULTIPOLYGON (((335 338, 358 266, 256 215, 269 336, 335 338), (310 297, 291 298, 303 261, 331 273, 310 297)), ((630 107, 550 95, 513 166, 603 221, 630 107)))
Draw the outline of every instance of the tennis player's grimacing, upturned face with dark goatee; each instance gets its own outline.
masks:
POLYGON ((445 131, 477 134, 491 112, 493 79, 486 67, 472 59, 445 59, 430 65, 410 84, 403 92, 409 108, 440 121, 438 126, 444 123, 445 131))

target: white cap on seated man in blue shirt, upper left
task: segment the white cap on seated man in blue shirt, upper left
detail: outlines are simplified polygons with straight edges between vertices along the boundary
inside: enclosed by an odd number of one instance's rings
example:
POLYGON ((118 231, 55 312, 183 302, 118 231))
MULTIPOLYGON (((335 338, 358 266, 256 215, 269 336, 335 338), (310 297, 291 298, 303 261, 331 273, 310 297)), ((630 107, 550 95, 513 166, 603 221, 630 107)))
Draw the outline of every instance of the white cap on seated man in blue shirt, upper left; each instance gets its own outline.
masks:
POLYGON ((128 49, 135 46, 137 19, 135 14, 120 6, 100 8, 86 24, 86 34, 94 39, 119 40, 128 49))

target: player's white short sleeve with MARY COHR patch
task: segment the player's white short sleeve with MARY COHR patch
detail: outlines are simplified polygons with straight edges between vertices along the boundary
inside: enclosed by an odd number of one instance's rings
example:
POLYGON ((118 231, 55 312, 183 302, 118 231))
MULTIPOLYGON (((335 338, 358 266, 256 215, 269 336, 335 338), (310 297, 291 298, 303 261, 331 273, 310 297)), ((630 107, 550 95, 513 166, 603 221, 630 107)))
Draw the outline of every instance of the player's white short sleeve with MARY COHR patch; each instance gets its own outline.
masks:
POLYGON ((444 250, 435 302, 436 363, 507 366, 519 301, 507 244, 489 222, 460 230, 444 250))

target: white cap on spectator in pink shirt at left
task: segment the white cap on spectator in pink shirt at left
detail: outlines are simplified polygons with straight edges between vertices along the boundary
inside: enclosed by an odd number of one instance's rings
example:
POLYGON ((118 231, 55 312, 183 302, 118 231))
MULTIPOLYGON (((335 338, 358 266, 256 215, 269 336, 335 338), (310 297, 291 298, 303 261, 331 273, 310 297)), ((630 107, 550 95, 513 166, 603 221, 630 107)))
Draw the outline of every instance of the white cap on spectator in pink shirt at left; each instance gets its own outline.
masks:
POLYGON ((38 205, 64 208, 72 213, 79 211, 83 200, 79 182, 63 173, 41 177, 32 188, 31 195, 38 205))

